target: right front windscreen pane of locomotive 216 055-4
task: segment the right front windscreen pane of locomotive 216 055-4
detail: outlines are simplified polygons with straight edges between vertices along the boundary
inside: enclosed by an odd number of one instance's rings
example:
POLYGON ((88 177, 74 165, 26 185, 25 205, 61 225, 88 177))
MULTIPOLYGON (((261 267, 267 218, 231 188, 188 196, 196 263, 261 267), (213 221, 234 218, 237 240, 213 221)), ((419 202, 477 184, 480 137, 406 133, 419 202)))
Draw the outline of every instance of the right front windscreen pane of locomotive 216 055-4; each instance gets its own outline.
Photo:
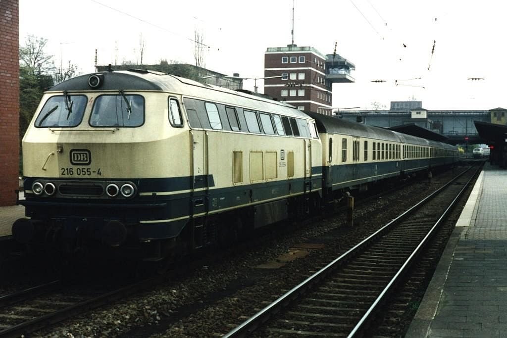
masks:
POLYGON ((144 123, 141 95, 100 95, 95 99, 89 124, 92 127, 139 127, 144 123))

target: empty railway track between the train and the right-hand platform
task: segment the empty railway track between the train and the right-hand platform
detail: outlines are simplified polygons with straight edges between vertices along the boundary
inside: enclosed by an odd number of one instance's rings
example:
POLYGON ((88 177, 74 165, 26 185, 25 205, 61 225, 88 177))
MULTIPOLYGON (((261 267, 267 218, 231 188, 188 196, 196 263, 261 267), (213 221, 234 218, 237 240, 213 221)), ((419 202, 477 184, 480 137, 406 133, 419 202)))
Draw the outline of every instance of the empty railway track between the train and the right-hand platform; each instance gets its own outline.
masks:
POLYGON ((403 284, 407 271, 476 173, 460 173, 225 336, 253 331, 259 336, 371 335, 374 319, 392 290, 403 284))

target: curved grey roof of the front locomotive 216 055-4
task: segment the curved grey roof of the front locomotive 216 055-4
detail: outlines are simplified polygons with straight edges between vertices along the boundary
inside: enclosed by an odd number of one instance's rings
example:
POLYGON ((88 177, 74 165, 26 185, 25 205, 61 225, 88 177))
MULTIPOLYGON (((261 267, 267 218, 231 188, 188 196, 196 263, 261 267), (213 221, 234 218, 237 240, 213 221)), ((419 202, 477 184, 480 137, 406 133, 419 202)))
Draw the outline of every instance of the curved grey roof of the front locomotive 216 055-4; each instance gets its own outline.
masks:
POLYGON ((250 95, 223 87, 202 84, 190 79, 180 78, 171 74, 150 70, 119 70, 101 71, 85 74, 73 79, 63 81, 50 88, 49 91, 111 91, 111 90, 135 90, 135 91, 163 91, 188 97, 238 105, 268 112, 307 118, 304 112, 284 102, 269 98, 250 95), (88 78, 93 74, 103 76, 103 85, 91 88, 88 78))

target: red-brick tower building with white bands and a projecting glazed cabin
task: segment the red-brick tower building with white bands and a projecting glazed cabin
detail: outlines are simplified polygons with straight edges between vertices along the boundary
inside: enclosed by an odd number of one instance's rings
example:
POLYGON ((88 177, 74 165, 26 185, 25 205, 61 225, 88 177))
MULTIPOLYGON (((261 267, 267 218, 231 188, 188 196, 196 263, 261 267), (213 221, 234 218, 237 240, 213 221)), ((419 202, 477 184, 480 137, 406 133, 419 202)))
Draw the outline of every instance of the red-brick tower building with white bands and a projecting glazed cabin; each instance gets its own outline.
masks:
POLYGON ((313 47, 269 47, 264 53, 264 93, 300 110, 331 115, 333 83, 354 82, 355 66, 313 47))

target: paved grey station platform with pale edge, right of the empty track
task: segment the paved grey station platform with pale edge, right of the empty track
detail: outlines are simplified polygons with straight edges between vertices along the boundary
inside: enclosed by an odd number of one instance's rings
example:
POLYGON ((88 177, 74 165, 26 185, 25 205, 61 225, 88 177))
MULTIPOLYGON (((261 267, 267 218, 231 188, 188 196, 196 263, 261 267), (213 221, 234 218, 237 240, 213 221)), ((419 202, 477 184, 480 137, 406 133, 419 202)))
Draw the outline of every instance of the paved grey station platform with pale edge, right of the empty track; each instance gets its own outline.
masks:
POLYGON ((484 166, 406 337, 507 337, 507 170, 484 166))

